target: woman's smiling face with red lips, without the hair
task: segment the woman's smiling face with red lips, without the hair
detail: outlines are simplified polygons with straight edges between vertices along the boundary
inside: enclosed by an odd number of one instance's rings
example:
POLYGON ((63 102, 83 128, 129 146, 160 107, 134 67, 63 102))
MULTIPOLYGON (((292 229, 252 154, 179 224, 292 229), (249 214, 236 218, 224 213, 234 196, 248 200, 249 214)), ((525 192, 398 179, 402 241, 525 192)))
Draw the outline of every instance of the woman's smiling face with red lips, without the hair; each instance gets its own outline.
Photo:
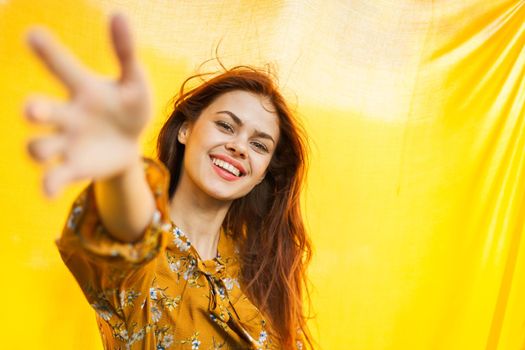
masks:
POLYGON ((224 93, 197 120, 185 123, 181 182, 231 201, 264 179, 279 139, 279 118, 267 98, 241 90, 224 93))

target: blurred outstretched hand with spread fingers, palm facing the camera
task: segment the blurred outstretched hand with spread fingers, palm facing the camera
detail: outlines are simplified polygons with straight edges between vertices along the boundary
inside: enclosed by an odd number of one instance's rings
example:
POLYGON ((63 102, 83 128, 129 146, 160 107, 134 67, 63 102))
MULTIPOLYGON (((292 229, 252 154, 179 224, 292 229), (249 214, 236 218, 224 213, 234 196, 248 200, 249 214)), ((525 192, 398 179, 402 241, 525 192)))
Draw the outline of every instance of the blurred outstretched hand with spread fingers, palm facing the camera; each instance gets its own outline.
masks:
POLYGON ((38 162, 58 159, 43 179, 49 197, 74 181, 110 178, 140 161, 138 138, 151 117, 151 91, 126 19, 114 15, 110 26, 120 65, 117 80, 90 72, 45 30, 28 34, 33 52, 69 91, 64 102, 39 96, 25 105, 28 121, 54 127, 27 145, 38 162))

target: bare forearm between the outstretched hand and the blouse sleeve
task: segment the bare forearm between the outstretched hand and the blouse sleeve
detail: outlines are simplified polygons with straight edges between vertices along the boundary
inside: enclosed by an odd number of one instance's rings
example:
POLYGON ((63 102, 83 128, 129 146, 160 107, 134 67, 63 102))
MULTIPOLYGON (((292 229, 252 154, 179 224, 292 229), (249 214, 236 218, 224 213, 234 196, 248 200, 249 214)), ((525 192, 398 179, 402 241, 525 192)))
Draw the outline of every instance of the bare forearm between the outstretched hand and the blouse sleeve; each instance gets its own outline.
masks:
POLYGON ((94 192, 109 234, 123 242, 139 240, 155 211, 155 199, 140 157, 121 174, 95 181, 94 192))

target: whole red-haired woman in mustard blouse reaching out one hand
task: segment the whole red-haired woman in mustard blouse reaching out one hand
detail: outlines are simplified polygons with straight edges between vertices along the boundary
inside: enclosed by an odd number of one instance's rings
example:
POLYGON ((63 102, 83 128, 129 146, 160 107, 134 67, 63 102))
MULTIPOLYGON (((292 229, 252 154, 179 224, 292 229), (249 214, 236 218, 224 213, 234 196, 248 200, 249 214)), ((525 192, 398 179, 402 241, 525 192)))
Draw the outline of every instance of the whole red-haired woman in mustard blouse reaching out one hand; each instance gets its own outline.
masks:
POLYGON ((57 131, 29 143, 60 161, 49 195, 92 183, 57 240, 106 348, 311 346, 302 310, 310 243, 300 213, 305 144, 269 75, 236 67, 186 91, 140 156, 149 89, 125 20, 114 16, 117 82, 88 73, 43 31, 29 43, 71 92, 28 102, 57 131), (169 170, 168 170, 169 169, 169 170))

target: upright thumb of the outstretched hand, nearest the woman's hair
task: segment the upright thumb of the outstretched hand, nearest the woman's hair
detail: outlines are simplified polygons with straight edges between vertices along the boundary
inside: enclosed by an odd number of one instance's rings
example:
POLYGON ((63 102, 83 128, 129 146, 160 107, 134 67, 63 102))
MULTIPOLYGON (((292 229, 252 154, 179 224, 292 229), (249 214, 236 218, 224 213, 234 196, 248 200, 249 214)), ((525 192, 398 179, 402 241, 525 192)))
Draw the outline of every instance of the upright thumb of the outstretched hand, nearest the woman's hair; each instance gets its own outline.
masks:
POLYGON ((120 80, 132 79, 137 73, 137 64, 131 30, 123 14, 111 17, 111 40, 120 64, 120 80))

